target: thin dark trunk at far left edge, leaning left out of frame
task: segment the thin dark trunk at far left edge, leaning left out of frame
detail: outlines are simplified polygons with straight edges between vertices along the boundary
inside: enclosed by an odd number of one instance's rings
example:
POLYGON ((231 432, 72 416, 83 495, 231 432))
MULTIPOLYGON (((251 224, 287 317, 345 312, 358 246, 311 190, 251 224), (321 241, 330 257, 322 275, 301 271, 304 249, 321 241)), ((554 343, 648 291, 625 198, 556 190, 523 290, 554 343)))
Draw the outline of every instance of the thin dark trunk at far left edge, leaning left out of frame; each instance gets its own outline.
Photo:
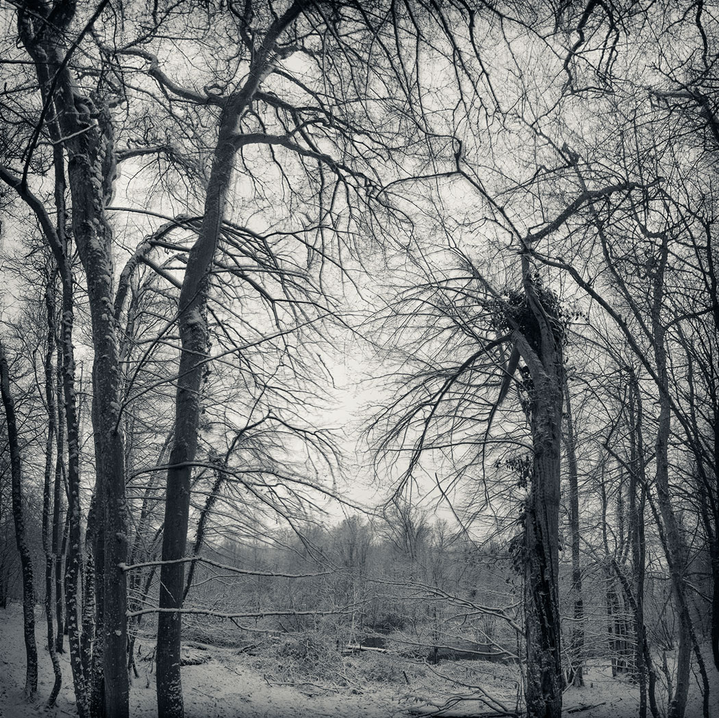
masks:
POLYGON ((12 517, 15 522, 15 540, 22 565, 22 617, 25 638, 25 698, 32 701, 37 692, 37 645, 35 645, 35 585, 32 578, 32 553, 25 535, 25 517, 22 507, 22 460, 17 436, 15 402, 10 392, 10 370, 5 348, 0 341, 0 393, 5 408, 7 441, 10 449, 12 477, 12 517))

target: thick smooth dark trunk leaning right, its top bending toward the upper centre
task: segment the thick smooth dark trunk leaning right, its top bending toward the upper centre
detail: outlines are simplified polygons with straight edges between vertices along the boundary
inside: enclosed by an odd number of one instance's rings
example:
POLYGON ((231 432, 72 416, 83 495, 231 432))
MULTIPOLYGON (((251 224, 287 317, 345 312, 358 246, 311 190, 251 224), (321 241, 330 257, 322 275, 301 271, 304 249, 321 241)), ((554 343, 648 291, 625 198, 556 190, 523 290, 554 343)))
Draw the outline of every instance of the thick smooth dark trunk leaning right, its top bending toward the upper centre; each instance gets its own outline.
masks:
POLYGON ((209 339, 206 318, 209 272, 219 245, 234 158, 239 147, 245 144, 237 125, 274 62, 275 44, 280 34, 298 17, 302 4, 302 0, 296 0, 275 19, 252 58, 244 86, 222 109, 202 226, 190 251, 180 290, 180 367, 175 394, 175 436, 165 494, 160 615, 157 620, 157 710, 163 718, 182 718, 184 715, 180 679, 182 618, 177 609, 183 602, 185 566, 180 559, 185 557, 187 547, 190 480, 197 451, 200 390, 209 339))

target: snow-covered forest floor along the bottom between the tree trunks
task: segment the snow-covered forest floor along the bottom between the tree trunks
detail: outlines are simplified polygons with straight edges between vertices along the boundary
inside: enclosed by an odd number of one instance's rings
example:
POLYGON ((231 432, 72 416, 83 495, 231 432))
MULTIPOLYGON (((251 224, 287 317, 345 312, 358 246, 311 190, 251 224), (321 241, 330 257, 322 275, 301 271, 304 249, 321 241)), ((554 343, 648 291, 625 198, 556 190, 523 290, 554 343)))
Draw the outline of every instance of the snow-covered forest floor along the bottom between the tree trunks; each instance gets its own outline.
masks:
MULTIPOLYGON (((30 718, 37 715, 72 716, 75 714, 68 656, 61 656, 63 689, 57 706, 45 709, 52 688, 52 666, 45 649, 45 620, 36 610, 37 648, 40 655, 40 680, 35 704, 22 696, 24 685, 24 643, 22 610, 12 604, 0 610, 0 718, 30 718)), ((480 684, 487 694, 498 697, 510 709, 513 701, 506 684, 495 680, 492 672, 507 671, 503 666, 470 661, 441 663, 437 668, 421 665, 397 665, 391 656, 362 653, 340 660, 346 680, 316 682, 305 674, 293 674, 276 656, 247 653, 238 655, 231 648, 193 644, 186 649, 188 657, 204 661, 183 667, 183 689, 188 718, 397 718, 410 711, 431 714, 430 704, 441 707, 452 696, 467 695, 462 688, 480 684), (273 661, 275 661, 273 665, 273 661), (290 675, 288 675, 288 673, 290 675), (454 679, 447 681, 443 675, 454 679), (362 684, 357 676, 364 676, 362 684), (288 685, 288 684, 293 685, 288 685)), ((139 678, 134 679, 130 694, 133 717, 153 717, 155 708, 155 675, 149 661, 137 661, 139 678)), ((707 666, 715 673, 713 666, 707 666)), ((716 676, 713 676, 713 679, 716 676)), ((587 685, 567 689, 564 714, 572 718, 636 718, 637 690, 627 681, 611 678, 607 670, 591 666, 587 685), (583 707, 590 707, 583 709, 583 707), (574 709, 579 708, 579 711, 574 709)), ((718 681, 713 680, 715 688, 718 681)), ((716 693, 714 694, 717 695, 716 693)), ((717 701, 713 701, 719 706, 717 701)), ((461 701, 450 714, 477 716, 487 709, 479 701, 461 701)), ((719 717, 716 708, 712 713, 719 717)), ((686 718, 701 716, 699 692, 693 687, 686 718)))

